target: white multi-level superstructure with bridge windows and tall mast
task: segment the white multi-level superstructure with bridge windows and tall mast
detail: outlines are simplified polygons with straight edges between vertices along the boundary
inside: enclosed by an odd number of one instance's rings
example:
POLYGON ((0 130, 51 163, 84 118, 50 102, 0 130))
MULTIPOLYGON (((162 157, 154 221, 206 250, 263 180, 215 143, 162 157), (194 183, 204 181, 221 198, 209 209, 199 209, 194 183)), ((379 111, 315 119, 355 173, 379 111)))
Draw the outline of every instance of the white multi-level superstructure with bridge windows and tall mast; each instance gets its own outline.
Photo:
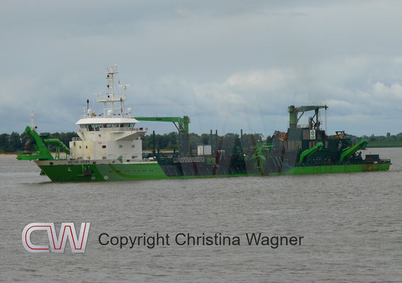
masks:
POLYGON ((121 96, 114 93, 114 74, 117 66, 106 69, 108 80, 106 96, 97 95, 96 101, 104 104, 103 113, 96 115, 94 110, 87 109, 82 119, 78 120, 77 134, 69 142, 72 158, 94 159, 121 159, 122 162, 135 162, 143 159, 141 136, 147 129, 135 127, 138 120, 131 117, 131 109, 125 110, 125 91, 129 85, 120 85, 124 93, 121 96))

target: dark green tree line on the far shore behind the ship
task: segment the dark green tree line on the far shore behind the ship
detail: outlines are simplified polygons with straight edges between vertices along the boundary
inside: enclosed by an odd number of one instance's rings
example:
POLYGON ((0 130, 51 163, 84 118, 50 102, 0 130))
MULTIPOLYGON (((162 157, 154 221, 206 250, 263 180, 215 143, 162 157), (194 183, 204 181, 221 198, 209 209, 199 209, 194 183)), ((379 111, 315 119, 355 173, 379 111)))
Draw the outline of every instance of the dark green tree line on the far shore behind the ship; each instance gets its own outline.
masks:
MULTIPOLYGON (((76 132, 55 132, 55 133, 40 133, 41 136, 46 136, 50 139, 60 139, 65 145, 69 146, 69 141, 73 137, 78 137, 76 132)), ((155 149, 178 149, 178 136, 177 132, 169 132, 168 134, 155 134, 155 149)), ((402 141, 402 132, 398 134, 387 133, 386 136, 363 136, 356 137, 350 136, 352 139, 367 139, 368 141, 402 141)), ((143 139, 143 150, 152 150, 154 146, 152 134, 145 134, 143 139)), ((235 144, 235 146, 240 146, 240 135, 228 133, 223 136, 218 136, 218 138, 213 134, 213 142, 216 144, 218 142, 225 144, 235 144)), ((19 134, 18 132, 12 132, 11 134, 0 134, 0 153, 13 153, 17 151, 23 151, 28 146, 32 149, 31 144, 27 144, 29 141, 28 134, 23 132, 19 134)), ((251 146, 255 143, 264 141, 264 136, 262 134, 243 134, 242 146, 251 146)), ((191 149, 196 149, 196 146, 201 144, 210 144, 211 136, 210 134, 189 134, 189 144, 191 149)), ((52 147, 50 148, 53 149, 52 147)))

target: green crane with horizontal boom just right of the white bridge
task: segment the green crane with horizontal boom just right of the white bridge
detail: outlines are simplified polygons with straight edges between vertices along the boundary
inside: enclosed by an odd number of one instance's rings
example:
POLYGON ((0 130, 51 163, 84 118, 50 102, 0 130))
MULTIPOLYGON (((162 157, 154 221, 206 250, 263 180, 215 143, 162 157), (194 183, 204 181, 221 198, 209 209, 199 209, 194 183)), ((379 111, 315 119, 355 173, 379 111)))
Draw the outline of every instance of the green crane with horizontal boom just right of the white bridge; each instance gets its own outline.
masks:
MULTIPOLYGON (((184 117, 135 117, 138 121, 172 122, 179 132, 179 151, 182 155, 189 154, 189 123, 190 118, 184 117)), ((154 141, 155 142, 155 141, 154 141)), ((155 151, 155 150, 154 150, 155 151)), ((154 152, 155 154, 155 152, 154 152)))

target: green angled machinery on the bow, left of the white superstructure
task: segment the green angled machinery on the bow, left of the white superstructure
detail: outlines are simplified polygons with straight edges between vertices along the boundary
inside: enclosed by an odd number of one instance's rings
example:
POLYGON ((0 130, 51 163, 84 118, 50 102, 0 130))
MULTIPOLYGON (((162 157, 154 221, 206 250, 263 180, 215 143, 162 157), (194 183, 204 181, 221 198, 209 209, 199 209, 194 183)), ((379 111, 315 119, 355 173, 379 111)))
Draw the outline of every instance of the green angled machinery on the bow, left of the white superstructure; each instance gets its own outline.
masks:
POLYGON ((42 139, 39 134, 31 129, 29 126, 26 127, 25 132, 28 134, 30 139, 33 141, 33 146, 35 148, 35 154, 18 154, 18 160, 54 160, 55 158, 60 159, 60 149, 65 152, 66 158, 69 154, 68 147, 60 141, 60 139, 42 139), (49 145, 56 145, 56 155, 53 158, 49 151, 49 145))

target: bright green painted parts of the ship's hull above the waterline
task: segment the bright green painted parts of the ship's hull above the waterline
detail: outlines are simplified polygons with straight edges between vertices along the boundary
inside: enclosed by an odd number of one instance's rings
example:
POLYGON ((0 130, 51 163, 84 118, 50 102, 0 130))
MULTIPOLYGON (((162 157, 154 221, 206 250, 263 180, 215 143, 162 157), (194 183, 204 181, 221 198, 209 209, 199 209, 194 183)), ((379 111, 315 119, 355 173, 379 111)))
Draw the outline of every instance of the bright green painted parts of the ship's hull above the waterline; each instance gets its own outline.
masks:
MULTIPOLYGON (((182 175, 167 176, 158 163, 132 163, 132 164, 57 164, 36 161, 42 169, 43 175, 47 175, 54 182, 82 182, 82 181, 116 181, 116 180, 160 180, 168 178, 216 178, 239 177, 258 174, 230 174, 230 175, 182 175)), ((369 171, 387 171, 391 163, 377 164, 350 164, 332 166, 299 166, 281 173, 269 175, 307 175, 326 173, 357 173, 369 171)))

